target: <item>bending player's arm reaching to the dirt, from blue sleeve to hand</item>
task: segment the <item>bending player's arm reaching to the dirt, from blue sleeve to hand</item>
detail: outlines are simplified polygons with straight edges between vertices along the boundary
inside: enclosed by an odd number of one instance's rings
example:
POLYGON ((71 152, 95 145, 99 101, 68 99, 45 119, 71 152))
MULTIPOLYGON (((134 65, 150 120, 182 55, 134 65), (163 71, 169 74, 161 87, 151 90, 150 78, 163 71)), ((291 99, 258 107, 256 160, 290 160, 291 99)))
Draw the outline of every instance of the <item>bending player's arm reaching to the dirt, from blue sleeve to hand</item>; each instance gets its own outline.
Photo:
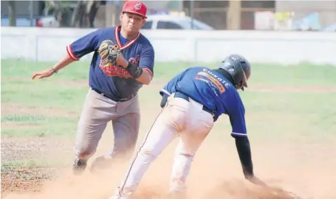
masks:
POLYGON ((231 136, 235 138, 235 146, 242 165, 244 177, 251 183, 266 186, 266 184, 255 177, 253 173, 251 146, 246 134, 245 109, 238 94, 236 97, 237 99, 233 100, 229 106, 229 118, 232 126, 231 136))

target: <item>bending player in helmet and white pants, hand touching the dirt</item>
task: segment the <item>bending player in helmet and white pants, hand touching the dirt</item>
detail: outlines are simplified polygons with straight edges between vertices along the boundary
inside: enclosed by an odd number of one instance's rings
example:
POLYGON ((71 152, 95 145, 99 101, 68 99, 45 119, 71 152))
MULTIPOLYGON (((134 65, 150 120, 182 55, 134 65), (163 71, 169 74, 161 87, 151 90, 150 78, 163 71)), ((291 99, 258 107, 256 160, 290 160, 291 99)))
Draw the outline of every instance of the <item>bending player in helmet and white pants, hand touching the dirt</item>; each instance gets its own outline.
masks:
POLYGON ((150 163, 173 139, 176 148, 169 196, 184 198, 185 181, 193 156, 222 114, 229 115, 231 136, 235 139, 242 171, 247 180, 266 186, 253 173, 251 150, 246 134, 245 110, 238 89, 244 91, 251 65, 240 55, 231 55, 218 69, 191 67, 170 80, 160 94, 162 110, 149 129, 125 179, 110 199, 127 199, 136 190, 150 163))

